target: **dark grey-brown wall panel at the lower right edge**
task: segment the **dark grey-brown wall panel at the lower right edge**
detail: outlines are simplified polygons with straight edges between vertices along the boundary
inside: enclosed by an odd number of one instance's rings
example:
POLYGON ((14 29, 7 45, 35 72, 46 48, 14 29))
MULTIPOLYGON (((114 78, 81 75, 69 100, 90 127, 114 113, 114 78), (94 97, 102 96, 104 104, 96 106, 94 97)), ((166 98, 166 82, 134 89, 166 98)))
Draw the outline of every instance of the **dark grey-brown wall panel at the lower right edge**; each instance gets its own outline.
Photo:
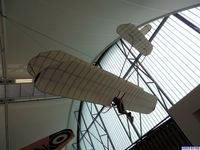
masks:
POLYGON ((194 115, 199 109, 200 85, 169 110, 193 145, 200 145, 200 120, 194 115))

